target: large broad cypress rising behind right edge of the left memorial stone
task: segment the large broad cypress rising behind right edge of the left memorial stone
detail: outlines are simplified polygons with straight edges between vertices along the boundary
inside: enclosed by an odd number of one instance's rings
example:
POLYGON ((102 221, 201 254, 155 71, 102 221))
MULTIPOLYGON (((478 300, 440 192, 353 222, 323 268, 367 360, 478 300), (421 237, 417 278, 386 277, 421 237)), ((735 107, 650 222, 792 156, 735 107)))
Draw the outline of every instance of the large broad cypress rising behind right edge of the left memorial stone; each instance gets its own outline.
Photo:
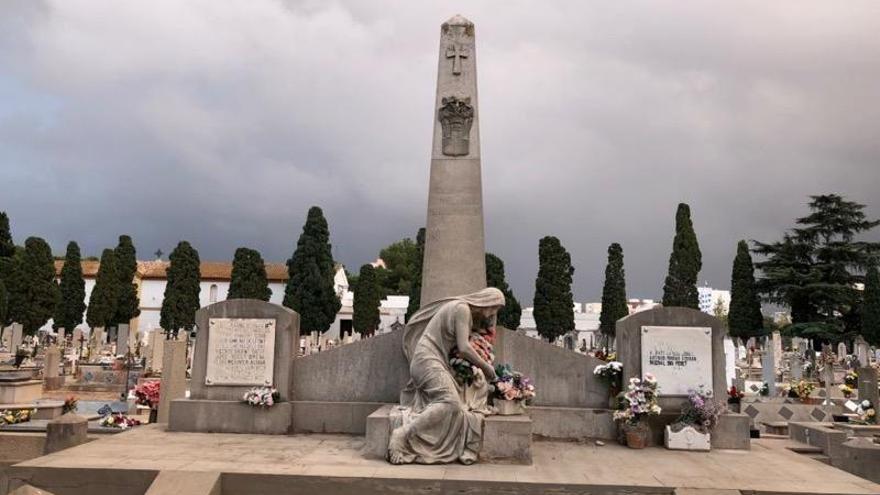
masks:
POLYGON ((287 261, 284 305, 299 313, 305 332, 326 332, 342 307, 333 285, 334 263, 330 229, 324 212, 309 209, 293 256, 287 261))

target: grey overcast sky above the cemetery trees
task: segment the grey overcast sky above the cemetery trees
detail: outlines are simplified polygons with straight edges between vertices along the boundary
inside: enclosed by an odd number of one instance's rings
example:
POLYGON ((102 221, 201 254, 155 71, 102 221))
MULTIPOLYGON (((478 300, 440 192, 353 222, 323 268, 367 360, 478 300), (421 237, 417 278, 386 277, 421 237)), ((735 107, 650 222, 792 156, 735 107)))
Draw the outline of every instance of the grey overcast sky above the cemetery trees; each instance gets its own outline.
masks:
MULTIPOLYGON (((880 2, 0 3, 0 210, 84 254, 133 236, 290 256, 310 205, 350 269, 415 237, 440 24, 476 24, 487 249, 531 305, 538 239, 575 299, 606 249, 662 293, 677 203, 701 280, 837 192, 880 217, 880 2)), ((870 238, 878 239, 873 233, 870 238)))

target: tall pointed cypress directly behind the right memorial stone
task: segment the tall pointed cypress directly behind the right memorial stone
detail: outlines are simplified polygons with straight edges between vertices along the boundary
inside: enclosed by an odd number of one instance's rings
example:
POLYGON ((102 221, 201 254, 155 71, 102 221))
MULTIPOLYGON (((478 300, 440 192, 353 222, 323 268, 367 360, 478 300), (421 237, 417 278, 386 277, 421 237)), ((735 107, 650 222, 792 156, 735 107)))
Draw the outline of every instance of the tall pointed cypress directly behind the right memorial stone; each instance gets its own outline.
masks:
POLYGON ((691 222, 691 208, 679 203, 675 213, 675 239, 669 256, 669 273, 663 285, 663 305, 700 309, 697 277, 702 267, 700 245, 691 222))

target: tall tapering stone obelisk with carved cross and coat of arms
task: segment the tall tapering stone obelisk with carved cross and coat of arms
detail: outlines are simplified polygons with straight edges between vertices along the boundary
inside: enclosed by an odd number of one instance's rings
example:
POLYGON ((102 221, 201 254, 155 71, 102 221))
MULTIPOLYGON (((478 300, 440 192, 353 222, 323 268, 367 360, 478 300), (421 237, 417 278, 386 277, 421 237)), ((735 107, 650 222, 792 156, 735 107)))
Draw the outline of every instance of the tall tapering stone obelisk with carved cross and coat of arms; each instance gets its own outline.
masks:
POLYGON ((474 24, 440 29, 421 304, 486 287, 474 24))

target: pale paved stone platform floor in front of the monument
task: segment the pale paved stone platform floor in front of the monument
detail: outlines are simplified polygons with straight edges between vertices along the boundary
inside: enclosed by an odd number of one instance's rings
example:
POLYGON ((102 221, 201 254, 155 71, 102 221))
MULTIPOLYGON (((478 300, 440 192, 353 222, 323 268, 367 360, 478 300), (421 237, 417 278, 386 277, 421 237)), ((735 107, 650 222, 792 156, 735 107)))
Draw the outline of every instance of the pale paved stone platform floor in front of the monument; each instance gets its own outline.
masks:
POLYGON ((755 440, 751 451, 697 453, 535 442, 531 466, 392 466, 363 458, 361 437, 171 433, 149 425, 18 466, 880 494, 880 485, 786 445, 787 440, 755 440))

